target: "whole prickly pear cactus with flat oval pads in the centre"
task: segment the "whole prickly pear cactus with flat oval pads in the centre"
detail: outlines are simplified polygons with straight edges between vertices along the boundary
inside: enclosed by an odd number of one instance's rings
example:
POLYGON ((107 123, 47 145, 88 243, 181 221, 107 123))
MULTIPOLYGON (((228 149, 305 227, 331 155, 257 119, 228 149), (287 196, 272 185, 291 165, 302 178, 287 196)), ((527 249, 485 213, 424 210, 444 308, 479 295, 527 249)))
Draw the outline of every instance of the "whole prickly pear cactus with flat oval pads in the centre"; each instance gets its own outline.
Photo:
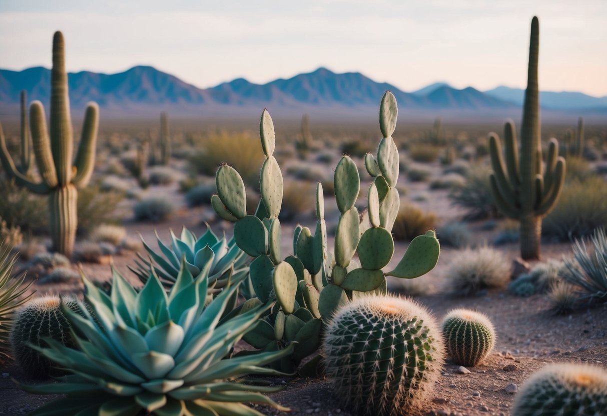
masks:
MULTIPOLYGON (((283 371, 293 371, 303 358, 318 349, 320 332, 337 307, 360 296, 361 292, 385 293, 386 275, 418 277, 432 270, 438 261, 438 240, 434 232, 427 232, 412 241, 394 270, 382 271, 394 253, 390 230, 400 203, 395 188, 399 157, 392 139, 397 113, 395 97, 386 92, 380 106, 384 138, 379 143, 377 161, 371 154, 365 158, 367 170, 373 176, 368 189, 368 226, 361 226, 358 209, 354 206, 360 192, 358 168, 348 156, 343 156, 337 164, 334 187, 340 216, 334 254, 328 249, 324 196, 319 183, 316 187, 316 230, 296 227, 294 255, 281 260, 278 216, 283 179, 273 156, 276 146, 274 124, 267 110, 263 110, 260 121, 266 159, 260 175, 262 198, 255 215, 246 215, 245 185, 239 173, 227 165, 217 171, 217 195, 212 196, 211 204, 219 216, 236 223, 234 240, 237 246, 254 257, 250 274, 258 300, 277 300, 272 314, 244 339, 265 351, 276 351, 290 341, 297 341, 291 361, 285 359, 281 363, 283 371), (360 264, 354 260, 357 253, 360 264)), ((312 360, 310 366, 316 362, 312 360)), ((302 369, 300 374, 306 371, 302 369)))

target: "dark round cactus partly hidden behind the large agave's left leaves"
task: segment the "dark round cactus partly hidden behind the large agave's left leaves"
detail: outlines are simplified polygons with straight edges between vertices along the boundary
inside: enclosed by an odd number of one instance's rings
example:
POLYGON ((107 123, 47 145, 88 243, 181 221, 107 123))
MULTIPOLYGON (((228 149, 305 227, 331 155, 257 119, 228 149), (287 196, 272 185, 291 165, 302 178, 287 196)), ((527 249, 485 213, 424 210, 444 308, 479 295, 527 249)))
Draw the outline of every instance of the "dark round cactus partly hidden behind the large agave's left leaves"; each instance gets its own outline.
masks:
POLYGON ((75 298, 48 295, 35 298, 15 314, 10 333, 13 357, 22 371, 31 378, 44 379, 59 374, 50 361, 28 344, 45 346, 44 337, 53 338, 66 346, 75 346, 70 324, 61 310, 61 303, 78 310, 75 298))

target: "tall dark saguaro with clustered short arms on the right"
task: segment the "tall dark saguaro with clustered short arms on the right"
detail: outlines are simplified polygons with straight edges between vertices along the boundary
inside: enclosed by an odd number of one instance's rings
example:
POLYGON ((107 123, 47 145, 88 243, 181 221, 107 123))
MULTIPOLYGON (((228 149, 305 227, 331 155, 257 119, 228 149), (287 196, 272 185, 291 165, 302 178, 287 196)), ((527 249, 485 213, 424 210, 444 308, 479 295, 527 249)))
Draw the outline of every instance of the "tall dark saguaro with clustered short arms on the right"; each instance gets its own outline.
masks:
POLYGON ((565 159, 558 157, 558 143, 554 138, 549 143, 546 167, 542 168, 538 50, 539 23, 534 17, 531 22, 520 164, 513 121, 507 121, 504 128, 506 163, 502 157, 500 138, 495 133, 489 135, 493 167, 490 181, 495 204, 504 215, 520 221, 521 257, 524 260, 540 258, 541 218, 555 206, 565 181, 565 159))

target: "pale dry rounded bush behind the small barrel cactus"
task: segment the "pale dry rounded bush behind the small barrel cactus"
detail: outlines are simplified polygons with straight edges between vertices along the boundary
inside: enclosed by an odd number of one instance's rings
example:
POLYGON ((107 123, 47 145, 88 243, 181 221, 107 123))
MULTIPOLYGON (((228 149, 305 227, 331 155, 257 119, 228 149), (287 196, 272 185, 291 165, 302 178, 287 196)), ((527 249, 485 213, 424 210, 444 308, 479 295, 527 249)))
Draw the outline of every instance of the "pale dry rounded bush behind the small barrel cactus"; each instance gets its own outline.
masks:
POLYGON ((510 264, 503 253, 490 247, 465 249, 449 265, 447 281, 449 289, 458 295, 504 287, 510 281, 510 264))

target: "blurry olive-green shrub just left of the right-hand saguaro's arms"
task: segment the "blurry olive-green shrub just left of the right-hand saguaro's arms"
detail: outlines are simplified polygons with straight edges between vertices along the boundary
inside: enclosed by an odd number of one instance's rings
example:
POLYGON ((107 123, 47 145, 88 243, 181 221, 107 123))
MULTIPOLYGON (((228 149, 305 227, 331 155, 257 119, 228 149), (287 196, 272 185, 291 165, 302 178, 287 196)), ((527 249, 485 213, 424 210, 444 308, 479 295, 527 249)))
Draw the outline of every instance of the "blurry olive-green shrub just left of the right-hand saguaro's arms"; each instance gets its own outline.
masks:
POLYGON ((465 176, 464 186, 452 189, 449 198, 453 205, 467 209, 469 219, 491 218, 498 215, 489 181, 491 170, 486 166, 474 166, 465 176))

